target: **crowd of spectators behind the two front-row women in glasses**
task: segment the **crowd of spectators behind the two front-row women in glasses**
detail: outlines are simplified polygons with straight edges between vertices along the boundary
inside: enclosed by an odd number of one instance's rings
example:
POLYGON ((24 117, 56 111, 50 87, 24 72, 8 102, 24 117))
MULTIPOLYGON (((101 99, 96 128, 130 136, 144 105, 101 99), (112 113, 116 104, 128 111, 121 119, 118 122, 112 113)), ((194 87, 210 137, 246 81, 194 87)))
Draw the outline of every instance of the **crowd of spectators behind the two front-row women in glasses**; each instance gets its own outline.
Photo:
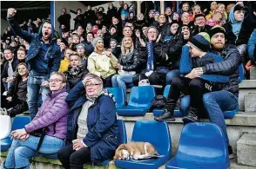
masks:
POLYGON ((204 116, 200 106, 207 105, 210 120, 223 129, 229 145, 225 120, 220 117, 227 107, 220 99, 237 105, 239 65, 244 66, 247 79, 255 66, 256 12, 241 1, 227 6, 213 1, 210 10, 183 3, 181 13, 167 7, 163 14, 150 10, 145 16, 137 14, 135 2, 119 4, 119 8, 108 3, 108 9, 93 10, 87 6, 84 13, 77 9, 75 29, 64 8, 57 16, 57 31, 40 18, 18 24, 12 10, 10 27, 1 38, 1 97, 6 101, 2 107, 7 105, 10 116, 29 108, 33 119, 51 95, 52 72, 64 74, 68 93, 88 73, 98 75, 103 88, 124 91, 146 79, 157 94, 172 85, 165 114, 156 120, 175 120, 179 97, 189 94, 191 107, 184 121, 197 121, 204 116))

